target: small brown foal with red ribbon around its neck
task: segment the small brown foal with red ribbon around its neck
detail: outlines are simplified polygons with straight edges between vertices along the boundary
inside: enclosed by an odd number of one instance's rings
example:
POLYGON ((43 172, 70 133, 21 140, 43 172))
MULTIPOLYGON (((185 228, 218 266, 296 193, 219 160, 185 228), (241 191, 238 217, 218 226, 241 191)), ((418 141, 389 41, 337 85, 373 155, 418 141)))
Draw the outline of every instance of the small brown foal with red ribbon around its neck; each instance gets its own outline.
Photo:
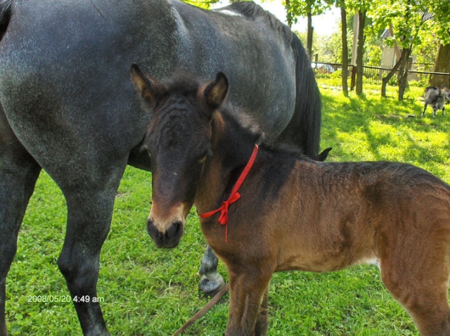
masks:
POLYGON ((316 162, 263 144, 235 198, 259 134, 243 129, 230 107, 218 112, 228 89, 224 74, 197 86, 166 87, 136 70, 133 78, 157 106, 143 142, 160 169, 148 231, 156 245, 174 247, 192 204, 207 217, 203 234, 229 270, 226 335, 266 335, 274 272, 362 263, 378 264, 422 335, 450 335, 446 183, 411 164, 316 162), (221 211, 205 215, 214 209, 221 211), (217 223, 226 217, 226 225, 217 223))

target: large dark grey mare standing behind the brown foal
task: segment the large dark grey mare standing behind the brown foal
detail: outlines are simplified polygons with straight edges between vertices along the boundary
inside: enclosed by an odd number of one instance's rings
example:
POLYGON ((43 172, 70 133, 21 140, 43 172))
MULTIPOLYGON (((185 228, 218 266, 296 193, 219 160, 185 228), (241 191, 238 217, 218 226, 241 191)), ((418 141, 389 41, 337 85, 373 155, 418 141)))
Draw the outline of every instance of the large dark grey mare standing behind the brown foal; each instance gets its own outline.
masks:
MULTIPOLYGON (((39 172, 63 191, 58 259, 72 297, 96 297, 99 255, 127 164, 150 170, 131 63, 230 80, 229 99, 266 141, 316 157, 320 95, 300 41, 252 3, 204 11, 176 0, 0 0, 0 335, 6 275, 39 172)), ((243 123, 245 120, 243 119, 243 123)), ((202 272, 221 283, 214 254, 202 272), (216 274, 214 278, 214 274, 216 274)), ((75 303, 85 335, 108 335, 98 302, 75 303)))

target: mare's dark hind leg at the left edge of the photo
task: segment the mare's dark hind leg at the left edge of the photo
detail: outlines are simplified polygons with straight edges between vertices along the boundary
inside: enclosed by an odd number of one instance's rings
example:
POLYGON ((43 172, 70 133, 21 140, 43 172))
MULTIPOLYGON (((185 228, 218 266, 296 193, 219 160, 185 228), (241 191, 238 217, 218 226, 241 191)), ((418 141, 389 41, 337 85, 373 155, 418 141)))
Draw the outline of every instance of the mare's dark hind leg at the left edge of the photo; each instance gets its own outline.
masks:
POLYGON ((8 126, 0 106, 0 335, 5 319, 6 275, 17 250, 17 238, 41 167, 8 126))

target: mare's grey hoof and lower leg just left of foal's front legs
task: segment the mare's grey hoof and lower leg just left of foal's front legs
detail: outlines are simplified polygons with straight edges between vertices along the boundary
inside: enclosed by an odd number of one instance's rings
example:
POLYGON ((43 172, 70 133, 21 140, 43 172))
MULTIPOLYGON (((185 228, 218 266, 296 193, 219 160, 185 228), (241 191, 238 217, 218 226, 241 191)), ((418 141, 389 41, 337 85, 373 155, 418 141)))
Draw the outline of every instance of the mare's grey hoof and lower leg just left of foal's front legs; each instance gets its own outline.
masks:
POLYGON ((206 295, 213 297, 216 295, 225 282, 219 272, 217 272, 217 264, 219 260, 216 254, 212 251, 210 245, 207 245, 205 254, 203 254, 202 262, 200 264, 200 290, 206 295))

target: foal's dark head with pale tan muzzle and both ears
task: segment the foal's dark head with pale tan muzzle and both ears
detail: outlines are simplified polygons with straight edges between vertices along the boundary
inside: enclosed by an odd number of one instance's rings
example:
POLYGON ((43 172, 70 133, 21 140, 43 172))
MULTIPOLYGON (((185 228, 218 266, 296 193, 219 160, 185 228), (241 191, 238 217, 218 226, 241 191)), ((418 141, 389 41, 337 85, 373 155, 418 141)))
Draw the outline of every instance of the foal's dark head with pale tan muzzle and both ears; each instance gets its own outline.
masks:
POLYGON ((228 80, 219 72, 205 85, 186 77, 166 86, 143 75, 137 65, 131 67, 131 78, 146 108, 153 110, 143 141, 153 173, 148 233, 158 247, 176 247, 203 162, 211 153, 211 121, 224 101, 228 80))

